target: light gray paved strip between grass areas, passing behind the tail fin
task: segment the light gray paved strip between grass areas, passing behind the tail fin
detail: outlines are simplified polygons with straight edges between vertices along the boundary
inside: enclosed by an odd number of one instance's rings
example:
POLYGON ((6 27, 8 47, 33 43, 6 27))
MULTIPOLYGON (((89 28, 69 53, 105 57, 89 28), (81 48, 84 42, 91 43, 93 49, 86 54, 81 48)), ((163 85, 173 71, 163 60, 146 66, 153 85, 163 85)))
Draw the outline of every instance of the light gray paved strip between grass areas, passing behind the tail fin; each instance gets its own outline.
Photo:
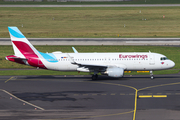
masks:
MULTIPOLYGON (((33 45, 180 45, 180 38, 28 38, 33 45)), ((12 45, 0 38, 0 45, 12 45)))

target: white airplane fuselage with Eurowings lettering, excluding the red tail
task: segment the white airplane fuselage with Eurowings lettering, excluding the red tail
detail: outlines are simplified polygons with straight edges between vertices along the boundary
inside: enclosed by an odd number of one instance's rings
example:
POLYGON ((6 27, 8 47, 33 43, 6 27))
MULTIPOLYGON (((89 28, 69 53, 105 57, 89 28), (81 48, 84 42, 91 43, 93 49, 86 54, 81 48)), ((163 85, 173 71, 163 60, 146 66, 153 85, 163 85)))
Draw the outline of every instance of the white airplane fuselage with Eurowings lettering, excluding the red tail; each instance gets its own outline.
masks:
MULTIPOLYGON (((78 71, 79 66, 71 64, 67 53, 51 53, 54 59, 41 58, 47 69, 78 71)), ((76 63, 120 67, 124 70, 163 70, 175 63, 166 56, 150 52, 126 53, 68 53, 76 63)), ((84 71, 85 72, 85 71, 84 71)))

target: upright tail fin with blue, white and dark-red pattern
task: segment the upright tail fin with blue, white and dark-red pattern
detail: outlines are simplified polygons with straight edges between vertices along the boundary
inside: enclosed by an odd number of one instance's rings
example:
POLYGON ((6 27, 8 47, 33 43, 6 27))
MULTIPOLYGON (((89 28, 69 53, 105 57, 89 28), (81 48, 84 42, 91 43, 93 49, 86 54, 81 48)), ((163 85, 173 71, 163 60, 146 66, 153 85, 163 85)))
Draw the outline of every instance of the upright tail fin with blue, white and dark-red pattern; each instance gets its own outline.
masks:
POLYGON ((8 30, 15 56, 26 58, 26 55, 38 54, 36 48, 34 48, 17 27, 8 27, 8 30))

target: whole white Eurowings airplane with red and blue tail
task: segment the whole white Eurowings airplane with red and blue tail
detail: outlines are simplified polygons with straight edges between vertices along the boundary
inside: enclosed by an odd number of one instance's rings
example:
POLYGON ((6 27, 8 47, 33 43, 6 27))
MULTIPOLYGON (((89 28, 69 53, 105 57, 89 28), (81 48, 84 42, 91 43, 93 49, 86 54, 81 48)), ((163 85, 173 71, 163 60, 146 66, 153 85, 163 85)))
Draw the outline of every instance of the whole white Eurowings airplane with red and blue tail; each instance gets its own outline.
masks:
POLYGON ((38 51, 17 27, 8 27, 14 55, 6 56, 8 61, 37 68, 56 71, 91 72, 92 80, 98 73, 110 77, 123 77, 124 71, 150 71, 151 79, 155 70, 170 69, 175 66, 172 60, 159 53, 117 52, 117 53, 42 53, 38 51))

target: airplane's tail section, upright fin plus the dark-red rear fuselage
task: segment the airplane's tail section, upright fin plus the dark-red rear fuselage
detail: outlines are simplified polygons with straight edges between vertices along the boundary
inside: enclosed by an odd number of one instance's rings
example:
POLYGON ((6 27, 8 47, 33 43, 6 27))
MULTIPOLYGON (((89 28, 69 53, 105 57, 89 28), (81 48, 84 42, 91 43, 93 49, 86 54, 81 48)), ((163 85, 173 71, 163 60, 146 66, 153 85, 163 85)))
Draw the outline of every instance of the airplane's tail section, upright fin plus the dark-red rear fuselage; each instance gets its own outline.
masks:
POLYGON ((21 31, 17 27, 8 27, 8 30, 15 55, 6 56, 6 60, 46 69, 40 53, 21 31))

